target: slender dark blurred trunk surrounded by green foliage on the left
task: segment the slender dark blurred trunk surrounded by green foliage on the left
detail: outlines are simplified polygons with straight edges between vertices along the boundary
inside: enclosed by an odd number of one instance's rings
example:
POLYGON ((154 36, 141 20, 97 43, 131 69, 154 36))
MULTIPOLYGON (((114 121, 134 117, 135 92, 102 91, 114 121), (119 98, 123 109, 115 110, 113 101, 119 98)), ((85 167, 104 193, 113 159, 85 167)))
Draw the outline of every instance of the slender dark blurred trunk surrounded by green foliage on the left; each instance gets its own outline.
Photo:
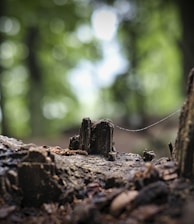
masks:
POLYGON ((41 136, 43 134, 44 118, 42 114, 42 74, 38 61, 38 42, 39 30, 35 26, 31 26, 27 30, 26 44, 29 54, 27 57, 27 66, 30 74, 29 82, 29 110, 31 135, 41 136))

